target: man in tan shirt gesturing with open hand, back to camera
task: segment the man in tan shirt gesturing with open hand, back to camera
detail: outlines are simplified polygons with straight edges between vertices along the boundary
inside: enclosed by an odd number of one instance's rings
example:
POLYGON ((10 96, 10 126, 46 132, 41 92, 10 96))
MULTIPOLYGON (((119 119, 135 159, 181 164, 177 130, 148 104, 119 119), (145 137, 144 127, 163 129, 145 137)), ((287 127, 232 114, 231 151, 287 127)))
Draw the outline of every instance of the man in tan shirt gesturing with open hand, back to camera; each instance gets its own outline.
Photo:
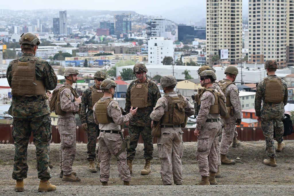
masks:
POLYGON ((106 79, 101 83, 101 90, 104 95, 93 106, 93 116, 95 123, 101 130, 99 134, 98 156, 100 165, 100 182, 107 186, 110 174, 110 158, 114 155, 117 160, 118 172, 123 180, 123 185, 130 185, 131 175, 126 161, 126 145, 123 145, 123 134, 121 125, 133 118, 137 108, 131 107, 127 115, 122 115, 121 108, 117 101, 112 99, 115 92, 116 83, 106 79))

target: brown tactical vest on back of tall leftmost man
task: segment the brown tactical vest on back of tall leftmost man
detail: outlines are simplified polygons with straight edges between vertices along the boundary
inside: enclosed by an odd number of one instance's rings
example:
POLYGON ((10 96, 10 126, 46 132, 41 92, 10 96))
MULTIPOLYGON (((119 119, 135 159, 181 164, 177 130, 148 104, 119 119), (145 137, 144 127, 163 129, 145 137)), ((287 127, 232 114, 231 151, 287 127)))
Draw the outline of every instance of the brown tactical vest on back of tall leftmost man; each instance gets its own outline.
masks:
POLYGON ((12 63, 12 96, 46 95, 43 80, 36 80, 36 57, 30 61, 22 62, 14 59, 12 63))

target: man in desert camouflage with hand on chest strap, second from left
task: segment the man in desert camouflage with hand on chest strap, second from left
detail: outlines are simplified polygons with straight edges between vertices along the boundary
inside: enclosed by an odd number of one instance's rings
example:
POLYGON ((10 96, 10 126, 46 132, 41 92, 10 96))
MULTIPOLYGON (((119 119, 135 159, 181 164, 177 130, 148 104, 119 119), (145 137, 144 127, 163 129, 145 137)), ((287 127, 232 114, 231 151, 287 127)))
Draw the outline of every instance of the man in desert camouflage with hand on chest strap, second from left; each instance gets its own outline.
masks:
POLYGON ((64 112, 58 115, 58 131, 60 134, 60 175, 62 181, 80 182, 81 179, 76 177, 76 172, 72 171, 72 165, 76 157, 76 120, 75 114, 79 111, 81 97, 76 98, 72 91, 72 84, 78 79, 78 70, 73 67, 64 69, 63 76, 66 81, 60 88, 63 88, 59 94, 60 108, 64 112), (66 88, 64 88, 66 87, 66 88))

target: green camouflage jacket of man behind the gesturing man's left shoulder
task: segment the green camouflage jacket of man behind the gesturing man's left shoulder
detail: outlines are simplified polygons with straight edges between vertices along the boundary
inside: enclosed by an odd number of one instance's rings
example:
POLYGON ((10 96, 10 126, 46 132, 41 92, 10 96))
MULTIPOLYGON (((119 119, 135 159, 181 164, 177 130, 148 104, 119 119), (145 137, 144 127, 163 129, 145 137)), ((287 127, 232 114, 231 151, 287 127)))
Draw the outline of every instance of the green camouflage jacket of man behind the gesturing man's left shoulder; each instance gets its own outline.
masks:
MULTIPOLYGON (((93 87, 97 90, 99 90, 95 84, 93 85, 93 87)), ((81 109, 81 114, 80 119, 81 119, 81 123, 95 123, 94 121, 94 117, 93 117, 93 110, 87 110, 87 107, 93 107, 92 105, 92 90, 91 88, 87 88, 85 91, 83 91, 82 97, 81 97, 81 101, 82 101, 82 109, 81 109)))

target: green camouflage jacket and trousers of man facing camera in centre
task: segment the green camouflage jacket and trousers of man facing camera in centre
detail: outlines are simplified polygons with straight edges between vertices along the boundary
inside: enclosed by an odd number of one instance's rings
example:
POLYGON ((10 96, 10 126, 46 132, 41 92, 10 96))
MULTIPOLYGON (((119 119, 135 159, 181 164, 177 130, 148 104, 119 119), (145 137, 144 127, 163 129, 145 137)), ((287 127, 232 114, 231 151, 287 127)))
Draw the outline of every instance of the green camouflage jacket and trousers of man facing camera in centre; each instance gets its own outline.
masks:
MULTIPOLYGON (((147 80, 145 81, 147 83, 147 80)), ((126 93, 126 113, 130 112, 131 109, 131 89, 135 81, 132 81, 128 86, 126 93)), ((151 103, 152 106, 146 108, 138 108, 134 118, 130 120, 129 124, 129 135, 130 135, 130 149, 128 149, 127 157, 130 160, 135 158, 136 148, 138 145, 139 136, 141 133, 143 143, 144 143, 144 158, 152 159, 153 154, 153 137, 151 135, 151 119, 150 114, 153 107, 156 105, 156 101, 161 97, 158 86, 155 82, 150 81, 148 85, 148 98, 147 102, 151 103)))

